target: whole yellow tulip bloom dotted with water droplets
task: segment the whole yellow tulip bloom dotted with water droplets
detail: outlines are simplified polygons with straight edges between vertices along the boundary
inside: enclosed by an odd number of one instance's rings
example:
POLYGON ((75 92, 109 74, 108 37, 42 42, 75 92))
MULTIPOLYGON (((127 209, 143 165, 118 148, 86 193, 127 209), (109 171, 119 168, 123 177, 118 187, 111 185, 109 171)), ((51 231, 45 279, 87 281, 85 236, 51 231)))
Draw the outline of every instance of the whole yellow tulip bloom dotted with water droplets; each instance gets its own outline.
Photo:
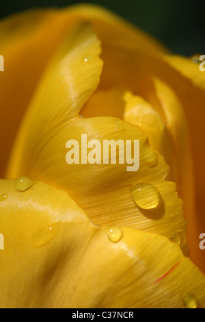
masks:
POLYGON ((0 307, 205 308, 198 56, 88 4, 3 18, 0 54, 0 307))

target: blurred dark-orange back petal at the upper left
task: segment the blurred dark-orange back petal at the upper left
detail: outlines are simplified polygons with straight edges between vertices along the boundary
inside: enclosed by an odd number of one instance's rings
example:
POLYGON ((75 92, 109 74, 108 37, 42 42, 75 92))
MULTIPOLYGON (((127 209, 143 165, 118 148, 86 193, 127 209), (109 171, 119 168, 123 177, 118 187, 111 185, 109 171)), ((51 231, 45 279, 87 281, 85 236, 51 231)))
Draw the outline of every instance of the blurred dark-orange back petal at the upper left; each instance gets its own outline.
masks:
POLYGON ((5 174, 18 126, 42 71, 64 38, 65 26, 68 30, 72 21, 74 17, 68 21, 64 12, 36 9, 0 22, 0 50, 5 62, 4 72, 0 73, 1 176, 5 174))

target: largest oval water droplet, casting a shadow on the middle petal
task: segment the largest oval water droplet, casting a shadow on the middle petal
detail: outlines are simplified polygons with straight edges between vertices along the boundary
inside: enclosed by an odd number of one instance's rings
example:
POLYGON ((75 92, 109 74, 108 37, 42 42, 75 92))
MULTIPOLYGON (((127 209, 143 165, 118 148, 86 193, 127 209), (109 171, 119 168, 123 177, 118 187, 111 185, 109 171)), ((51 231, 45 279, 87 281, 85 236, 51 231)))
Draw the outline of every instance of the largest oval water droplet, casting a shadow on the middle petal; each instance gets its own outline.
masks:
POLYGON ((154 209, 161 206, 162 198, 159 191, 146 182, 140 182, 131 188, 131 197, 135 204, 142 209, 154 209))

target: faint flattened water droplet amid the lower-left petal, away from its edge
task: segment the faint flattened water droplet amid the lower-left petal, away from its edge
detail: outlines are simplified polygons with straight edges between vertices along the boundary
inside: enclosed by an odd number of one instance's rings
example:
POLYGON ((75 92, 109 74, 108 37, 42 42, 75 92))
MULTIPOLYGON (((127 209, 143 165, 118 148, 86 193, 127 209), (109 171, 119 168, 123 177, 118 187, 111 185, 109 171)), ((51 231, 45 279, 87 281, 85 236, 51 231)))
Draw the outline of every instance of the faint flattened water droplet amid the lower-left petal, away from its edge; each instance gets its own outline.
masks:
POLYGON ((55 238, 57 231, 55 226, 44 227, 42 230, 33 235, 33 247, 42 247, 55 238))

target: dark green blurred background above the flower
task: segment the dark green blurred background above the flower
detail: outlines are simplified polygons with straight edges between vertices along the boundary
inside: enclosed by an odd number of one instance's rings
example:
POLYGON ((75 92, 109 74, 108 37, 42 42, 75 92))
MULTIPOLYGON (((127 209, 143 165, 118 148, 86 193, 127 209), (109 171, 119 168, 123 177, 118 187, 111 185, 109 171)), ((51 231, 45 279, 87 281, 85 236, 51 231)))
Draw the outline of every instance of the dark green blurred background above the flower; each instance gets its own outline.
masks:
POLYGON ((120 14, 174 53, 205 54, 205 1, 182 0, 0 0, 0 17, 37 7, 64 7, 74 3, 97 3, 120 14))

